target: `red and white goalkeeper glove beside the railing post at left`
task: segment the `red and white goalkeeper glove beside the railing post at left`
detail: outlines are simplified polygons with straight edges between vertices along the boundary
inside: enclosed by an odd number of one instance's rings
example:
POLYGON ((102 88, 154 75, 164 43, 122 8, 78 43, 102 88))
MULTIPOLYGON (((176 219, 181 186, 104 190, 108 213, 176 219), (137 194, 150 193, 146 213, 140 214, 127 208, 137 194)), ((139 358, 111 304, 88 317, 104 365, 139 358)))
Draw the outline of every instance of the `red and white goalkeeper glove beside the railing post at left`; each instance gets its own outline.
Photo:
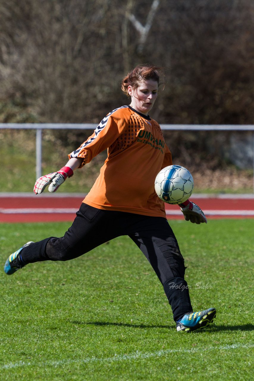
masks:
POLYGON ((45 174, 45 176, 39 177, 36 180, 34 185, 34 193, 42 193, 48 184, 50 184, 48 187, 49 192, 56 192, 67 177, 71 176, 73 176, 73 170, 72 168, 66 166, 62 167, 61 170, 57 172, 45 174))

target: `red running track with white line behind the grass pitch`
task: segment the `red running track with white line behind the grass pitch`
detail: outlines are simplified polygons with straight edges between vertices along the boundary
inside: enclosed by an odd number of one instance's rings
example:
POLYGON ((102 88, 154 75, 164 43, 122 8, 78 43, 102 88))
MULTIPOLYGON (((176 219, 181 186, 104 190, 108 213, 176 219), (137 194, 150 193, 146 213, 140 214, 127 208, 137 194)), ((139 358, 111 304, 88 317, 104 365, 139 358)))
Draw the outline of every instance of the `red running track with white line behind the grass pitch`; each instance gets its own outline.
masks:
MULTIPOLYGON (((73 221, 84 195, 0 194, 0 223, 73 221)), ((208 219, 254 218, 254 195, 193 195, 208 219)), ((168 219, 183 219, 177 205, 166 205, 168 219)))

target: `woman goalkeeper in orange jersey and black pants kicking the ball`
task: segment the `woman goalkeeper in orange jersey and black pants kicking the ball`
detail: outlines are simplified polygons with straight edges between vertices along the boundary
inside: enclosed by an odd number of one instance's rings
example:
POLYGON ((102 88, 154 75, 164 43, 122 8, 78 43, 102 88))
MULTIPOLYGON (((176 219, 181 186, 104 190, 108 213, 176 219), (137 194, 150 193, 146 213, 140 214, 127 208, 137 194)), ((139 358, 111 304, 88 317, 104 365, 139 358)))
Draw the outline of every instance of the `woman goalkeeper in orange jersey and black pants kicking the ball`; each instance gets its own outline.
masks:
MULTIPOLYGON (((34 187, 55 192, 73 171, 108 150, 108 156, 72 226, 63 237, 28 242, 9 256, 6 274, 29 263, 67 261, 120 235, 128 235, 144 253, 173 311, 177 331, 193 331, 211 323, 216 309, 193 312, 184 279, 184 258, 168 224, 165 204, 154 189, 157 173, 172 164, 160 126, 148 115, 158 95, 158 67, 137 66, 123 79, 121 88, 131 97, 102 119, 94 133, 75 151, 61 170, 40 177, 34 187), (124 173, 124 176, 123 176, 124 173)), ((187 200, 180 205, 184 218, 206 223, 200 208, 187 200)))

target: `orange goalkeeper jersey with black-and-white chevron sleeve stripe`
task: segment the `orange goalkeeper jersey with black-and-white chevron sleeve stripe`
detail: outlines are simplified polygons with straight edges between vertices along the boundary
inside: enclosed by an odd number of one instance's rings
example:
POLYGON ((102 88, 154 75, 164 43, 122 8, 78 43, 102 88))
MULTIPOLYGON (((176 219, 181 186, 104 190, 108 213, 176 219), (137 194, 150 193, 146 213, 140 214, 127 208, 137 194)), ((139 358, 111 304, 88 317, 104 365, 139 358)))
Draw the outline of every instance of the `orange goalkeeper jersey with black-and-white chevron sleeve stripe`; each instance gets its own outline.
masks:
POLYGON ((130 106, 119 107, 69 158, 83 158, 83 166, 105 149, 107 159, 83 202, 99 209, 165 217, 154 181, 172 164, 172 157, 158 123, 130 106))

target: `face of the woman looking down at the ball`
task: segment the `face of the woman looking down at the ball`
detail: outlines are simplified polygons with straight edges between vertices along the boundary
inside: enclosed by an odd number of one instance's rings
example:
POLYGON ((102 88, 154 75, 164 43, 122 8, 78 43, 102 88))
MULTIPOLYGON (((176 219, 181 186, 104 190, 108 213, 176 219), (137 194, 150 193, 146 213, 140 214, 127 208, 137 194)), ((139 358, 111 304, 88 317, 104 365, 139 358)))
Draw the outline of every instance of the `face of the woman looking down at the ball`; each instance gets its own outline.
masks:
POLYGON ((143 80, 135 90, 133 86, 128 86, 128 93, 131 96, 130 106, 141 114, 148 115, 158 95, 158 82, 143 80))

